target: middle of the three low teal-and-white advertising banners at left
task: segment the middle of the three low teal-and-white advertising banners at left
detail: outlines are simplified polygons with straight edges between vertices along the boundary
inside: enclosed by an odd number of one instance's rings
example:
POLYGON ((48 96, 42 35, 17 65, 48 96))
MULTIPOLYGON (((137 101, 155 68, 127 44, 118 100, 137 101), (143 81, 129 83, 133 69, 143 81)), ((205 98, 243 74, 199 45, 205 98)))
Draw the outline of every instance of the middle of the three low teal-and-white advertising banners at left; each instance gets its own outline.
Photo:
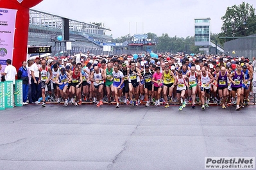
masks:
POLYGON ((5 108, 13 108, 13 81, 4 81, 5 108))

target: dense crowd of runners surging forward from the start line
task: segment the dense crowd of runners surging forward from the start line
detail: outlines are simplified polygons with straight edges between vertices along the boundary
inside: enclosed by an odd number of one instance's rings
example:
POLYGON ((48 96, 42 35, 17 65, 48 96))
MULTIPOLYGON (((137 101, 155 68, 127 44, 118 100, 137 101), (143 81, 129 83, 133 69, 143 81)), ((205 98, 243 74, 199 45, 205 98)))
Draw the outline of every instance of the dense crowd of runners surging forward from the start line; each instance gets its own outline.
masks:
POLYGON ((22 72, 26 68, 31 84, 28 101, 42 100, 42 107, 48 100, 65 106, 114 103, 117 108, 121 103, 165 108, 177 103, 181 111, 189 103, 204 110, 214 102, 223 109, 236 105, 239 110, 250 101, 255 62, 243 56, 183 54, 35 58, 28 66, 22 63, 19 77, 26 75, 22 72))

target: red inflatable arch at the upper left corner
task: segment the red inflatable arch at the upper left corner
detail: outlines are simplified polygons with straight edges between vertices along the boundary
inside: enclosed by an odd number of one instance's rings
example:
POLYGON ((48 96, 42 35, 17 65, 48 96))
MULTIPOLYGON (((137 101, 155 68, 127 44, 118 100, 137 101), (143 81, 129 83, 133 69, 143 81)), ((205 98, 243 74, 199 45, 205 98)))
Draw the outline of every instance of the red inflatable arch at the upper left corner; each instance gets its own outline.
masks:
POLYGON ((26 61, 28 46, 29 10, 43 0, 0 0, 1 8, 17 10, 12 65, 19 69, 26 61), (19 3, 19 1, 21 3, 19 3))

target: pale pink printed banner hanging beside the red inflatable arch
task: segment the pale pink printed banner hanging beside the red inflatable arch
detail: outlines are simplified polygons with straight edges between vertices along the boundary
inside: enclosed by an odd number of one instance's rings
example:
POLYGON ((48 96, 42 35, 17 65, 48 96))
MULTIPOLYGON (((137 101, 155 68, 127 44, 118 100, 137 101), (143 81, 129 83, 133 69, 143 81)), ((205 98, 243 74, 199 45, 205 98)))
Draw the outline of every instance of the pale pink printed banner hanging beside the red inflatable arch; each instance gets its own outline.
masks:
POLYGON ((0 8, 0 64, 2 71, 6 59, 13 59, 13 42, 17 10, 0 8))

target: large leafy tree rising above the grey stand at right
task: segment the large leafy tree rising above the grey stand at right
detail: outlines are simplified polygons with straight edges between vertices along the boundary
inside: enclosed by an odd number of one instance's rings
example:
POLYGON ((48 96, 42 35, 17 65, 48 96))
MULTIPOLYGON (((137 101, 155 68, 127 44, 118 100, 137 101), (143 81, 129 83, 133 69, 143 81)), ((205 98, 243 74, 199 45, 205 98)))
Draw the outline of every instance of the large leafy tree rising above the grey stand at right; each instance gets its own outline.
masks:
MULTIPOLYGON (((249 3, 242 3, 226 8, 223 25, 219 36, 248 36, 256 33, 255 8, 249 3)), ((223 43, 225 40, 221 40, 223 43)))

